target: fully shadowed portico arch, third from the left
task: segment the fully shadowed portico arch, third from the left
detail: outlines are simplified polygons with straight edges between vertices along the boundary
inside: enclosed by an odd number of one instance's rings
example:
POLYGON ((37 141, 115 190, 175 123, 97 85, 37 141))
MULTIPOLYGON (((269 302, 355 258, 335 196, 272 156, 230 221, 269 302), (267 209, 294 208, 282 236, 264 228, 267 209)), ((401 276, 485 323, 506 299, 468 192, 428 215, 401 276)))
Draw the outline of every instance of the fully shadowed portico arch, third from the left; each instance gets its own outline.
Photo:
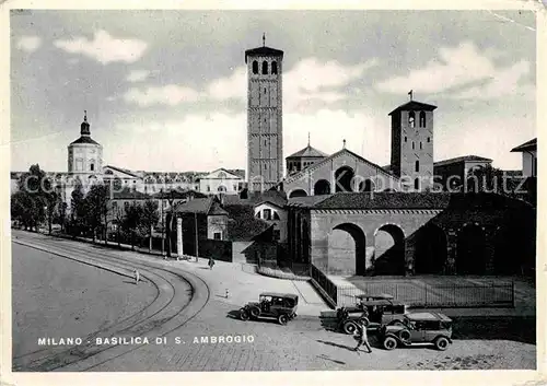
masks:
POLYGON ((416 233, 414 255, 415 270, 418 274, 443 273, 447 258, 447 238, 442 227, 427 223, 416 233))

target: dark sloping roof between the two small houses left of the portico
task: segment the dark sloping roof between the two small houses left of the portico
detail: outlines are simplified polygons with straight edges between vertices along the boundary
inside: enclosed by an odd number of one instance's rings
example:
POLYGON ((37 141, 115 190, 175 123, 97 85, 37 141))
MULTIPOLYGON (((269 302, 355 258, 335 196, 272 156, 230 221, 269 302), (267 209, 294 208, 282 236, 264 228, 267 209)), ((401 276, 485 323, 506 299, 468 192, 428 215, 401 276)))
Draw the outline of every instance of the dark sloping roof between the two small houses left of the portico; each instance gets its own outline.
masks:
POLYGON ((230 221, 228 222, 228 238, 232 242, 249 242, 266 231, 274 227, 272 224, 255 218, 253 207, 246 204, 225 204, 230 221))

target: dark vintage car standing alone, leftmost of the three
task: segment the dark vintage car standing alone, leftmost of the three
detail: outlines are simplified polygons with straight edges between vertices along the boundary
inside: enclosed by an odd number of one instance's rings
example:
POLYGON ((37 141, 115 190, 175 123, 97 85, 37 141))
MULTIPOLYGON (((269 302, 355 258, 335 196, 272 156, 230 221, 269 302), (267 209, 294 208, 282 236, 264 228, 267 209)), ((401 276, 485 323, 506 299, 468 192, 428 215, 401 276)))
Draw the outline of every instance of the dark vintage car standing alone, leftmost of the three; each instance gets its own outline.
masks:
POLYGON ((299 296, 291 293, 265 292, 258 302, 247 303, 240 309, 242 320, 258 318, 275 318, 280 325, 286 325, 296 317, 299 296))

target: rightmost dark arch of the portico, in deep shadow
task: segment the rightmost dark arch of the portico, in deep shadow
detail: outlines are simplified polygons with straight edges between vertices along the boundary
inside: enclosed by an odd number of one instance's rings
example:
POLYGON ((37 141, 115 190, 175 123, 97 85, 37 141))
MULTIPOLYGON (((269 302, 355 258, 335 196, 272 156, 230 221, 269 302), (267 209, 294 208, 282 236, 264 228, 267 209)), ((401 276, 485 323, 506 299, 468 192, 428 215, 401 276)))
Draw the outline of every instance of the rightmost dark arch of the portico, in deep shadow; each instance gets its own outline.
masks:
POLYGON ((456 272, 458 274, 486 272, 486 233, 477 223, 466 223, 458 231, 456 272))

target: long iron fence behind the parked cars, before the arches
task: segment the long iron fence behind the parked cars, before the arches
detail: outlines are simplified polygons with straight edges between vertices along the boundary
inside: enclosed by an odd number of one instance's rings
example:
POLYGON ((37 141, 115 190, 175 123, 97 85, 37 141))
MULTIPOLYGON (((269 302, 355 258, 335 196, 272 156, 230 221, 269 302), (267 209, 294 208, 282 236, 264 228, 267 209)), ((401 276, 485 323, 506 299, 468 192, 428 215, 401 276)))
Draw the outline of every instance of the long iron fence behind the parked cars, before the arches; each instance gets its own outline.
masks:
POLYGON ((337 306, 356 303, 359 294, 385 293, 411 307, 514 307, 514 282, 423 283, 361 282, 338 286, 337 306))

